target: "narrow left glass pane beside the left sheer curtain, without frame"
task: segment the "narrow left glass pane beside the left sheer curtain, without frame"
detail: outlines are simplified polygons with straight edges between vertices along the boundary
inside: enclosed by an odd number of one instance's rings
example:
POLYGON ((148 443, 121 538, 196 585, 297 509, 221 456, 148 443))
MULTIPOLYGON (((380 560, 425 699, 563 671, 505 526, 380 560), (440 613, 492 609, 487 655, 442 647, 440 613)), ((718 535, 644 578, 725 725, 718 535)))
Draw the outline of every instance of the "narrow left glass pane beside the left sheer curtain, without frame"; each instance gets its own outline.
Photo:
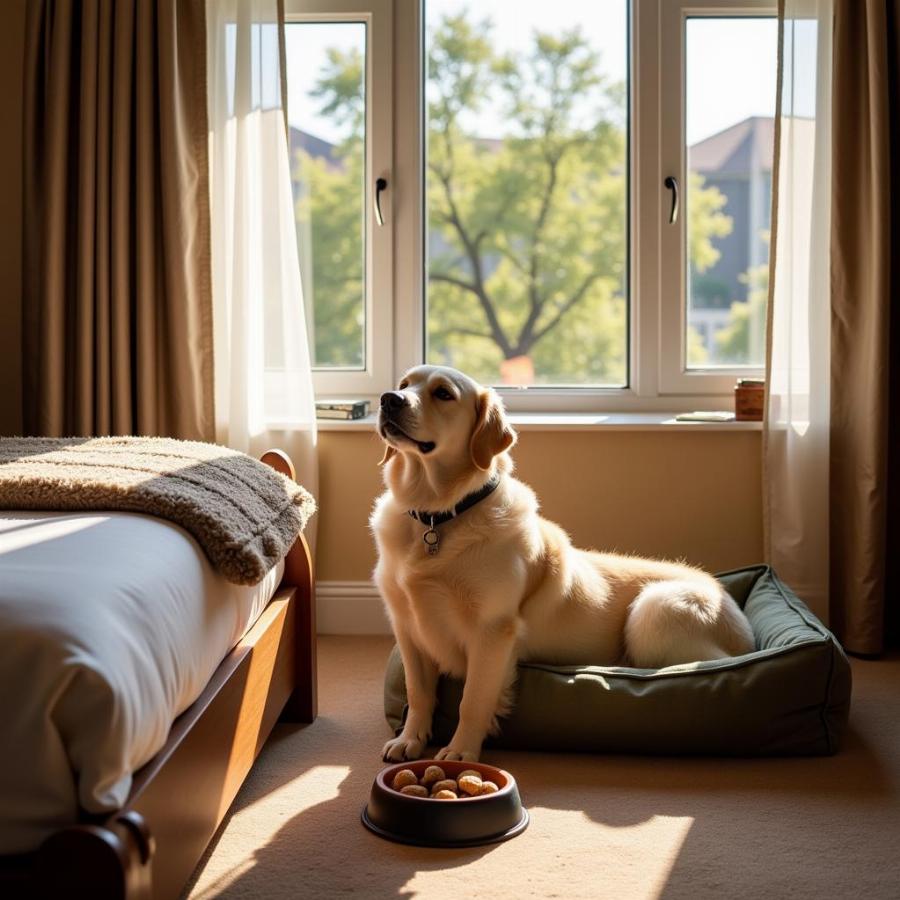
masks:
POLYGON ((285 27, 291 175, 316 368, 365 367, 366 26, 285 27))

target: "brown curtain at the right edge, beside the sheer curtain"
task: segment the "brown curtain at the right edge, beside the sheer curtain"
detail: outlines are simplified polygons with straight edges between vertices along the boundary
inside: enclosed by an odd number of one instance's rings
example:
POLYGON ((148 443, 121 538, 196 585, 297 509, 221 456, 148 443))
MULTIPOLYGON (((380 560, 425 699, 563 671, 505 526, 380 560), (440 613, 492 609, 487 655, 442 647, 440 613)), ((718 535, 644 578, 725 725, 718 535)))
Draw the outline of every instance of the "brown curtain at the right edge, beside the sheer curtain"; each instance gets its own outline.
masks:
POLYGON ((835 2, 830 615, 860 654, 900 618, 898 29, 900 0, 835 2))

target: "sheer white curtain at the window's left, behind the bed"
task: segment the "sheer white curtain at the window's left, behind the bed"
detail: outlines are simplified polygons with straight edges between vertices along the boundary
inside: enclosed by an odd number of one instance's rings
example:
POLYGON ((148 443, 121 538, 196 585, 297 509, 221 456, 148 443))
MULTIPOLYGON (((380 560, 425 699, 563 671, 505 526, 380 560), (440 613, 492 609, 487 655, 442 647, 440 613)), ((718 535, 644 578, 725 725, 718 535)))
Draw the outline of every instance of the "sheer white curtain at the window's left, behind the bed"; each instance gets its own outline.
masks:
POLYGON ((316 419, 277 0, 208 0, 216 436, 290 453, 317 488, 316 419))

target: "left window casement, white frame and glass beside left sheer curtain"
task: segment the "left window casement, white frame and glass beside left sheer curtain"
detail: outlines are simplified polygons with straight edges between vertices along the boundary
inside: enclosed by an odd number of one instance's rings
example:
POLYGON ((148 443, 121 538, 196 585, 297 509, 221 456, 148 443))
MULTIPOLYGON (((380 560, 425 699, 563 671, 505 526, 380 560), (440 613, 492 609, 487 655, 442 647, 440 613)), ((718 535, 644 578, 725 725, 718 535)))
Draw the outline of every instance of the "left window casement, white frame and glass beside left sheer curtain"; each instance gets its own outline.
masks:
POLYGON ((297 245, 322 393, 375 394, 394 379, 392 230, 374 214, 376 181, 391 178, 390 9, 390 0, 285 2, 297 245))

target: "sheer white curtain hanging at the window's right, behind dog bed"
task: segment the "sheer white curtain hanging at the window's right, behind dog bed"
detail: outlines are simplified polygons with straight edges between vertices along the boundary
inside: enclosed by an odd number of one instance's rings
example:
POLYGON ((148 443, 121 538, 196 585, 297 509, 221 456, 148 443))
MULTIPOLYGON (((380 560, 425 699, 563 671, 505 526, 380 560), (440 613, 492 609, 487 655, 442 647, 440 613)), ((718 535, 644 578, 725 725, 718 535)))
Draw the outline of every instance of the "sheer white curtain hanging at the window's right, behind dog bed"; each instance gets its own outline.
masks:
POLYGON ((828 620, 832 0, 783 0, 773 195, 766 554, 828 620))

